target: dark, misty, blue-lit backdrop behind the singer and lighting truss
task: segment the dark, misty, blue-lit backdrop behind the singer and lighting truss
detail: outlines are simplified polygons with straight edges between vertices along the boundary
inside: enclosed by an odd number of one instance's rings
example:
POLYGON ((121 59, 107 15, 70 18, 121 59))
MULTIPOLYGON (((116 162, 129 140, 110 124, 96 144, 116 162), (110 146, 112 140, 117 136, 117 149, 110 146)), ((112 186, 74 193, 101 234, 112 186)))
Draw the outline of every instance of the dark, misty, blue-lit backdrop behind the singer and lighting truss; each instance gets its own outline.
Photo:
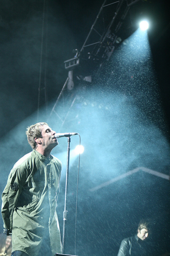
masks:
MULTIPOLYGON (((121 240, 135 234, 140 219, 146 218, 152 224, 150 256, 158 256, 170 252, 167 1, 134 3, 118 34, 122 42, 109 61, 101 68, 101 62, 83 62, 74 72, 74 88, 65 87, 51 112, 67 79, 64 61, 74 57, 73 49, 80 51, 102 3, 0 1, 0 189, 2 193, 14 163, 31 151, 27 126, 47 122, 56 132, 78 132, 85 151, 80 158, 76 254, 116 256, 121 240), (150 21, 145 37, 138 31, 142 17, 150 21), (88 73, 91 83, 82 79, 88 73)), ((109 15, 108 20, 113 17, 109 15)), ((79 136, 71 137, 71 150, 77 144, 79 136)), ((52 152, 63 163, 57 207, 61 234, 66 151, 67 139, 61 138, 52 152)), ((78 158, 70 161, 66 254, 74 255, 78 158)), ((2 230, 2 219, 0 225, 2 230)))

